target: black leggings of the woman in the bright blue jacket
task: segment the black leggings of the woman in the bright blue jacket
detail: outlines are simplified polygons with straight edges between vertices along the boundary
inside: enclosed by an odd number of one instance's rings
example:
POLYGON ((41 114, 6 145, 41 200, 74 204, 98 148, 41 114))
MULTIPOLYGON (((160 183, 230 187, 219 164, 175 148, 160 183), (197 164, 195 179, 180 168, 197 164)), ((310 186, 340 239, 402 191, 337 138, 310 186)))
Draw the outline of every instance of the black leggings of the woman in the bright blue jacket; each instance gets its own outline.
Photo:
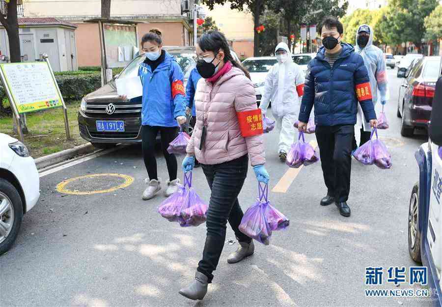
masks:
POLYGON ((144 165, 146 166, 147 174, 149 175, 149 180, 158 180, 157 174, 157 159, 155 158, 155 143, 160 131, 161 135, 161 149, 163 150, 164 157, 166 159, 167 171, 169 172, 169 180, 176 179, 176 173, 178 165, 176 162, 176 157, 174 154, 167 152, 167 147, 169 143, 172 142, 178 133, 177 127, 159 127, 159 126, 148 126, 144 125, 141 128, 141 135, 143 138, 142 148, 143 148, 143 158, 144 165))

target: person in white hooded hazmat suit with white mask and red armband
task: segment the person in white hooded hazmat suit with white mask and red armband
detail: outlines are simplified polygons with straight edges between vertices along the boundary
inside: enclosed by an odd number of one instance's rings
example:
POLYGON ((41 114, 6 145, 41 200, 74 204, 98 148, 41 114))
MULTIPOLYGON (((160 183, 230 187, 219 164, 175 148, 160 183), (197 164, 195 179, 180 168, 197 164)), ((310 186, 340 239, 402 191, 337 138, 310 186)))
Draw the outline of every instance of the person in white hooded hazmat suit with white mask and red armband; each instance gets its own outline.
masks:
POLYGON ((285 161, 297 136, 293 124, 298 120, 301 96, 304 93, 304 72, 293 62, 286 43, 281 42, 276 46, 275 55, 278 62, 266 76, 259 108, 265 116, 272 102, 272 113, 279 131, 278 154, 280 160, 285 161))

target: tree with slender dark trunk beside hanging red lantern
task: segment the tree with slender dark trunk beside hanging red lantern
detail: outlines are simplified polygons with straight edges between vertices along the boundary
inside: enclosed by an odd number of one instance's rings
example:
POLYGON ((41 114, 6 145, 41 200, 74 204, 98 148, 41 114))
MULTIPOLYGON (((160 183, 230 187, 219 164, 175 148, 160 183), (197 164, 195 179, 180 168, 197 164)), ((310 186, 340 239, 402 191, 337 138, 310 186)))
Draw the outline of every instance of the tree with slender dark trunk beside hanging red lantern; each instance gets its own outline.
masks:
MULTIPOLYGON (((264 10, 264 4, 270 0, 230 0, 230 8, 243 11, 245 7, 249 7, 253 15, 253 54, 255 57, 259 56, 259 33, 255 30, 260 26, 259 17, 264 10)), ((202 0, 210 10, 213 10, 215 4, 225 4, 227 0, 202 0)))

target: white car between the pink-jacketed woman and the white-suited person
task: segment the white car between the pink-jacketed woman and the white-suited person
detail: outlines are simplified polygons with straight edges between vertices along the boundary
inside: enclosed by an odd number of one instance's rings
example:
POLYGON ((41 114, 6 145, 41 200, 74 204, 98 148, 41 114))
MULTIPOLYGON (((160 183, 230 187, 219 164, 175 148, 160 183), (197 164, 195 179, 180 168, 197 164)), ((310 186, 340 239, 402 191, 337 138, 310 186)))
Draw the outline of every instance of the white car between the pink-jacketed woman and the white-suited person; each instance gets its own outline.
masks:
POLYGON ((248 58, 243 61, 244 68, 250 73, 250 78, 255 88, 256 103, 258 105, 261 103, 267 73, 276 62, 275 57, 248 58))

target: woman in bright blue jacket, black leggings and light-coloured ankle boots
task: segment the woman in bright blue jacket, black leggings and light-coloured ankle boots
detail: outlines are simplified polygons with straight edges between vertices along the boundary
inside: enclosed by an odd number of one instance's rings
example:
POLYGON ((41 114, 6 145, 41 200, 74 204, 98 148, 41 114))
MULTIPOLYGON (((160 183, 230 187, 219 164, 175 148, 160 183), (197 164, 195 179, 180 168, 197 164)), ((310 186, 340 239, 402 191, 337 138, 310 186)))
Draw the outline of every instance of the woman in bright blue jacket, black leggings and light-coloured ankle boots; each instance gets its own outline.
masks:
POLYGON ((167 152, 178 127, 186 123, 183 71, 178 63, 162 49, 161 32, 153 29, 141 39, 141 49, 146 59, 140 64, 138 75, 143 85, 141 134, 144 164, 149 179, 143 192, 143 200, 154 197, 161 190, 161 179, 157 175, 155 140, 160 132, 161 147, 166 159, 169 180, 165 196, 172 195, 180 182, 176 178, 177 161, 167 152))

